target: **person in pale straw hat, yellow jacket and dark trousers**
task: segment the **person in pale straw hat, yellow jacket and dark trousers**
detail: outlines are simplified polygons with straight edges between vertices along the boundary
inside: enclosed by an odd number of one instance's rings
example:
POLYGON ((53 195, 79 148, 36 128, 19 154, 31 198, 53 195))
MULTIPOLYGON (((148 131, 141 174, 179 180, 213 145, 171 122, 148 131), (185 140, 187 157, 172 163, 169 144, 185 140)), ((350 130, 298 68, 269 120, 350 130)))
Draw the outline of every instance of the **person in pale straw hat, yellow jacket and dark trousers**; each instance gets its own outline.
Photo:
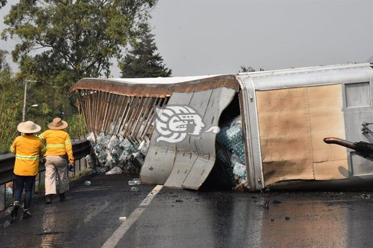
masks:
POLYGON ((12 218, 17 217, 20 208, 22 191, 25 188, 24 218, 31 217, 30 204, 32 188, 39 169, 39 156, 45 152, 45 146, 41 140, 34 135, 40 131, 40 126, 32 121, 21 122, 17 126, 23 136, 18 136, 10 146, 10 152, 15 154, 14 174, 15 191, 12 218))

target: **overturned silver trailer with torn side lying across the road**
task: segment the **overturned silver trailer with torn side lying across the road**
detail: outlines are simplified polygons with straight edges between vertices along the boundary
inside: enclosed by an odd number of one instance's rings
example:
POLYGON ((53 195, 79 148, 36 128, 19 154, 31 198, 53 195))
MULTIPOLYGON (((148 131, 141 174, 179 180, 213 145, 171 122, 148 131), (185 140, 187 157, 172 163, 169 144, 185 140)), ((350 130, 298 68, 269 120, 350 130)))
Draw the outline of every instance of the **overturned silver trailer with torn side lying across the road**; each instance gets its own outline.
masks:
POLYGON ((168 187, 199 189, 218 162, 217 127, 241 118, 244 184, 257 191, 371 180, 369 160, 323 138, 372 141, 366 126, 373 120, 372 81, 372 65, 362 63, 202 77, 85 78, 71 92, 77 92, 89 132, 137 144, 149 136, 141 180, 168 187))

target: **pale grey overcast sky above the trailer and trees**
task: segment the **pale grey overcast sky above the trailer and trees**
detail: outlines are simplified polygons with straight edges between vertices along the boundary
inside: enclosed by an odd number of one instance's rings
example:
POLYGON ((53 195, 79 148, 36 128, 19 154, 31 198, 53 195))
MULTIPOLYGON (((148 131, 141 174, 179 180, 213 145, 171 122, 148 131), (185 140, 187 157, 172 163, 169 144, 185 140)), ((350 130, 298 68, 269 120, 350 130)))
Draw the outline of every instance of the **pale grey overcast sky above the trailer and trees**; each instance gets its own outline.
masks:
POLYGON ((194 76, 373 62, 372 13, 373 0, 159 0, 151 24, 173 76, 194 76))

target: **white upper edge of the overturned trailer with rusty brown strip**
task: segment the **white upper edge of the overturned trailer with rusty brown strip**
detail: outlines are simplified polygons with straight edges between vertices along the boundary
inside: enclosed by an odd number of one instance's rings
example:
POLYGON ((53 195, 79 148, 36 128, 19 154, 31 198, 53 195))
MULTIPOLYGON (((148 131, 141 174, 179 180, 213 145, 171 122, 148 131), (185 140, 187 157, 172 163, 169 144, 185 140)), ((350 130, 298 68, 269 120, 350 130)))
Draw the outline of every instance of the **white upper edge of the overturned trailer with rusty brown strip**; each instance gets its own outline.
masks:
MULTIPOLYGON (((303 80, 302 85, 309 84, 315 80, 315 77, 329 75, 331 72, 337 70, 343 70, 353 68, 370 68, 370 63, 348 63, 340 65, 326 65, 326 66, 313 66, 304 68, 292 68, 284 70, 269 70, 269 71, 253 71, 243 73, 232 73, 232 74, 220 74, 220 75, 205 75, 205 76, 193 76, 193 77, 171 77, 171 78, 133 78, 133 79, 100 79, 100 78, 84 78, 76 83, 70 90, 71 92, 77 89, 83 90, 102 90, 106 92, 129 94, 133 95, 153 95, 153 96, 166 96, 171 95, 172 92, 192 92, 203 89, 213 89, 221 86, 228 88, 238 88, 237 79, 240 81, 247 81, 248 78, 255 79, 255 85, 257 89, 261 88, 278 88, 284 87, 284 83, 287 86, 288 81, 303 80), (294 76, 297 75, 297 76, 294 76), (307 75, 307 76, 306 76, 307 75), (311 76, 312 75, 312 76, 311 76), (288 78, 286 76, 289 76, 288 78), (260 80, 265 78, 264 81, 260 80), (310 79, 310 80, 307 80, 310 79)), ((346 73, 345 73, 346 74, 346 73)), ((348 73, 347 73, 348 74, 348 73)), ((340 77, 335 78, 340 79, 340 77)), ((294 84, 290 84, 293 85, 294 84)), ((296 87, 296 83, 295 86, 296 87)))

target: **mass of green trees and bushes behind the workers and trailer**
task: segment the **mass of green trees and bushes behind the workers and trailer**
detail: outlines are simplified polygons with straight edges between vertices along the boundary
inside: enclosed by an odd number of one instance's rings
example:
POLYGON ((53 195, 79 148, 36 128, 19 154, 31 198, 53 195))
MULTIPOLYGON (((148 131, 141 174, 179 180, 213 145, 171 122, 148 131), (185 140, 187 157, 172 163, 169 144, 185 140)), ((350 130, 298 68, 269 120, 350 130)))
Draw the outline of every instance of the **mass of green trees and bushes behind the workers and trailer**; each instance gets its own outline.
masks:
POLYGON ((170 77, 148 23, 156 2, 21 0, 13 5, 1 32, 3 40, 18 43, 13 51, 0 50, 0 153, 19 135, 26 81, 26 120, 45 130, 61 117, 76 138, 86 134, 86 125, 77 96, 68 90, 80 79, 110 77, 114 60, 121 77, 170 77))

